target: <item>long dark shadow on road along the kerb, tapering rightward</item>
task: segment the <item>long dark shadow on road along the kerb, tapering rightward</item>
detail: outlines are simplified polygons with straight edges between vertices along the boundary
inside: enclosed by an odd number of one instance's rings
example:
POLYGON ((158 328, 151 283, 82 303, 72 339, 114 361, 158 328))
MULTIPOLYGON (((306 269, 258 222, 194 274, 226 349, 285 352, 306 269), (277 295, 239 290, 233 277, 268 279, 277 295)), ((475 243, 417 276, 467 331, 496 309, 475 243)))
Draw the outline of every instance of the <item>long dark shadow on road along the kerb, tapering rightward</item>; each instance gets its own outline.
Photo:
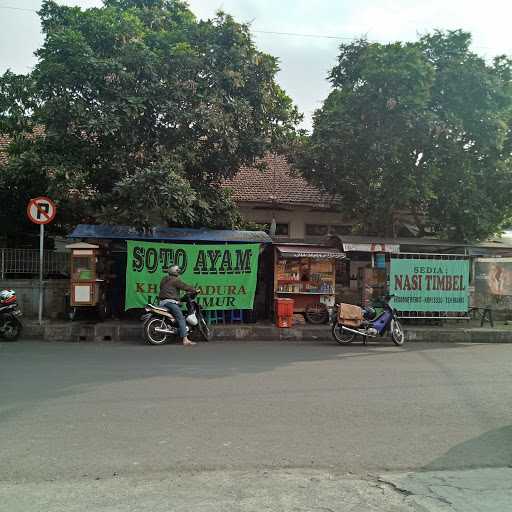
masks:
MULTIPOLYGON (((476 346, 476 345, 473 345, 476 346)), ((353 358, 407 357, 411 352, 448 350, 460 345, 391 342, 340 346, 317 342, 222 342, 195 347, 142 343, 0 343, 0 421, 23 404, 89 391, 91 385, 152 377, 217 379, 272 371, 304 362, 353 358)))

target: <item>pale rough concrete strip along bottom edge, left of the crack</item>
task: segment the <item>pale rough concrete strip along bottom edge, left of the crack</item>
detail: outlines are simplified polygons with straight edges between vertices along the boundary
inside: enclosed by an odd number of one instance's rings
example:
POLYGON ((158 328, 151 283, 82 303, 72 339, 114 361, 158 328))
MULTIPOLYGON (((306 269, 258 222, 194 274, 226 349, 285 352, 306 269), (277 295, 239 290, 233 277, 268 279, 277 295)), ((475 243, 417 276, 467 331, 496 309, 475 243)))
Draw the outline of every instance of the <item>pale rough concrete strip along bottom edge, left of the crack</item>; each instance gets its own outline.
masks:
POLYGON ((343 478, 319 470, 166 473, 141 480, 2 485, 10 512, 414 512, 407 497, 380 482, 343 478))

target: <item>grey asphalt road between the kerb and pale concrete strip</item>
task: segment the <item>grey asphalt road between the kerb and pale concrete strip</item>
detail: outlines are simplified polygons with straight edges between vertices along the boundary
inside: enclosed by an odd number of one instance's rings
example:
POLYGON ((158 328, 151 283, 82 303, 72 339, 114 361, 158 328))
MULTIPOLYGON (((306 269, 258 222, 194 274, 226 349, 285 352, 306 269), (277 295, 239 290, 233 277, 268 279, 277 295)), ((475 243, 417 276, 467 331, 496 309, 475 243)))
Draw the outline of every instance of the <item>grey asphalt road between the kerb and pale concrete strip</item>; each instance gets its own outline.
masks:
POLYGON ((511 378, 510 345, 0 343, 0 482, 505 467, 511 378))

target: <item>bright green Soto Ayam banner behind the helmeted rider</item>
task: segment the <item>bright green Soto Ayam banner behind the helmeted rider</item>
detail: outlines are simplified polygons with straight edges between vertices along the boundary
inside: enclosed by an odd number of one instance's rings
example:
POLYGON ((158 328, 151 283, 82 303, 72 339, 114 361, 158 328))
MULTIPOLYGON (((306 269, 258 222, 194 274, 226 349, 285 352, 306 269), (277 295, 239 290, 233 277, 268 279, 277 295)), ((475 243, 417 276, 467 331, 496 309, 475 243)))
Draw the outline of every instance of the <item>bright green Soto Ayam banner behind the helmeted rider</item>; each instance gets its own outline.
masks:
POLYGON ((179 265, 204 309, 252 309, 259 244, 187 245, 128 241, 125 309, 158 304, 163 269, 179 265))

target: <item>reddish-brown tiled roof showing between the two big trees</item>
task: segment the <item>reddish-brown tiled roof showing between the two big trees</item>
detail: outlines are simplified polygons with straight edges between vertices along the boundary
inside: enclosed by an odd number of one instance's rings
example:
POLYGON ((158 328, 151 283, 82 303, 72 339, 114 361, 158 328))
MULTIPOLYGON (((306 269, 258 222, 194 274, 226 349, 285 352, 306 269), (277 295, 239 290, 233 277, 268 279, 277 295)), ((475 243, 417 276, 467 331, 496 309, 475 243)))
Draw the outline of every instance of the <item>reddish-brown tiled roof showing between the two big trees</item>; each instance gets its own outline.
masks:
POLYGON ((281 155, 268 154, 262 159, 266 169, 242 167, 224 186, 233 190, 237 202, 313 205, 326 207, 331 197, 294 175, 290 164, 281 155))

